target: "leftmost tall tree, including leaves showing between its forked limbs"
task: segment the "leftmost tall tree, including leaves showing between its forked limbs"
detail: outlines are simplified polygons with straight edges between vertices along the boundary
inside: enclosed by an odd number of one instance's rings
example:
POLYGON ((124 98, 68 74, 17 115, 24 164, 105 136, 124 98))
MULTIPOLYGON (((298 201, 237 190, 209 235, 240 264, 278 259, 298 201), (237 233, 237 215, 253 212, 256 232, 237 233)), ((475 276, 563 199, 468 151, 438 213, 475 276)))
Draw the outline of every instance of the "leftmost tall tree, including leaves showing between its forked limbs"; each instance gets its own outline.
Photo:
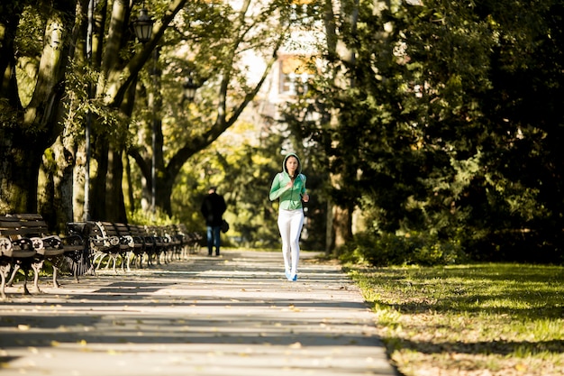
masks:
POLYGON ((61 132, 59 103, 76 3, 0 5, 0 206, 36 212, 41 158, 61 132))

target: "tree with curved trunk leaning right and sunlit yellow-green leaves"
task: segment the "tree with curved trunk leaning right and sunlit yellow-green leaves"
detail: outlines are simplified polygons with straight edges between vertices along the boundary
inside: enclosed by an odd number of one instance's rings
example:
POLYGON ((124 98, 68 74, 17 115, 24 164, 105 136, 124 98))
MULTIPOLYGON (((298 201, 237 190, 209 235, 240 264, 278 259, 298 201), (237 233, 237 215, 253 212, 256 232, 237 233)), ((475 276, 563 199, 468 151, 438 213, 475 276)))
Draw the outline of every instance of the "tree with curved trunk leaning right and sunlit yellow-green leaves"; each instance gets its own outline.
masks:
MULTIPOLYGON (((157 156, 156 206, 163 212, 172 215, 172 191, 186 161, 229 129, 259 93, 277 60, 277 50, 287 40, 290 11, 286 2, 263 4, 247 0, 237 9, 229 3, 203 2, 192 5, 189 11, 186 9, 168 30, 159 60, 159 67, 162 60, 167 61, 160 87, 167 101, 156 114, 159 126, 156 149, 152 151, 157 156), (251 56, 249 51, 264 60, 264 65, 253 66, 252 61, 246 61, 245 57, 251 56), (187 55, 188 59, 178 53, 187 55), (183 73, 180 77, 179 72, 183 73), (188 75, 202 85, 201 99, 196 103, 179 100, 180 87, 188 75), (167 122, 167 132, 171 134, 168 138, 164 136, 161 118, 167 122), (168 152, 163 151, 165 146, 168 152)), ((152 132, 145 130, 141 134, 149 137, 152 132)), ((140 142, 129 154, 149 183, 148 192, 152 160, 144 145, 150 142, 147 138, 140 142)))

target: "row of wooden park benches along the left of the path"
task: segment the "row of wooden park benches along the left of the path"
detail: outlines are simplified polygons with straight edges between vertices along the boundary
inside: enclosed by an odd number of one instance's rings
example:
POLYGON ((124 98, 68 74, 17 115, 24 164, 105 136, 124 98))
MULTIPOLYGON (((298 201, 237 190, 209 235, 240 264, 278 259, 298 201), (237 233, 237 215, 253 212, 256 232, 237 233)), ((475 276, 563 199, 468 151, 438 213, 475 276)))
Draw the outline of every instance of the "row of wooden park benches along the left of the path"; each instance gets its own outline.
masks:
POLYGON ((118 262, 122 270, 131 266, 150 266, 161 261, 187 257, 197 252, 202 236, 189 233, 184 225, 144 226, 102 221, 67 224, 67 234, 50 234, 47 223, 37 214, 0 216, 0 295, 11 286, 17 271, 22 270, 23 293, 29 294, 27 278, 33 271, 33 285, 38 292, 39 275, 45 261, 52 266, 53 286, 58 288, 59 271, 78 276, 94 273, 105 261, 106 267, 118 262), (11 271, 11 275, 10 275, 11 271), (9 279, 8 279, 9 277, 9 279))

